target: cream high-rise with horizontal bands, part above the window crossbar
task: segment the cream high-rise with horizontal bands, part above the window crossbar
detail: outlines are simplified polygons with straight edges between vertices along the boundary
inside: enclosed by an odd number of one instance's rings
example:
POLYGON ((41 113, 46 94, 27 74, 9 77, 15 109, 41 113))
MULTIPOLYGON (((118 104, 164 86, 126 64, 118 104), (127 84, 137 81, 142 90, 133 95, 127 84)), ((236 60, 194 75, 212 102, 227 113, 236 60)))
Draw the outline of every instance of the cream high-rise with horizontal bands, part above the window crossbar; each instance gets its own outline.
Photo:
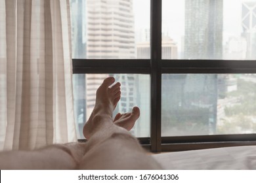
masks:
POLYGON ((133 1, 87 0, 87 58, 134 59, 133 1))

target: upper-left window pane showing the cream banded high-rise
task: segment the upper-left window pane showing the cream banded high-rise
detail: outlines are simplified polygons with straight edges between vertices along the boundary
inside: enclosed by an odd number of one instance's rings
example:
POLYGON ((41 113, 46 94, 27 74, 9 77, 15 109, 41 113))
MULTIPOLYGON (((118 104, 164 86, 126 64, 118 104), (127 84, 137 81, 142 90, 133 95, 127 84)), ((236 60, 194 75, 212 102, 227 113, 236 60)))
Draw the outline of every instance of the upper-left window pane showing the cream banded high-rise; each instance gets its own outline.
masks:
POLYGON ((150 0, 70 0, 70 11, 73 58, 150 58, 150 0))

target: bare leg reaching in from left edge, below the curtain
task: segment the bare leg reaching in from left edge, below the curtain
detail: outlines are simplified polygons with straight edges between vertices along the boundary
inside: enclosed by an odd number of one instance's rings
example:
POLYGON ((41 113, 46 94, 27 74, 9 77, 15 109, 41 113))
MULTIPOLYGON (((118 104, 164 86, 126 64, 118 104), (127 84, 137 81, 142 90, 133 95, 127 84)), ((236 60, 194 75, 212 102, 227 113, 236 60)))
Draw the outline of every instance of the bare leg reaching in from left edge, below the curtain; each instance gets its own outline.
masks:
POLYGON ((0 152, 0 169, 77 169, 84 143, 54 144, 38 150, 0 152))

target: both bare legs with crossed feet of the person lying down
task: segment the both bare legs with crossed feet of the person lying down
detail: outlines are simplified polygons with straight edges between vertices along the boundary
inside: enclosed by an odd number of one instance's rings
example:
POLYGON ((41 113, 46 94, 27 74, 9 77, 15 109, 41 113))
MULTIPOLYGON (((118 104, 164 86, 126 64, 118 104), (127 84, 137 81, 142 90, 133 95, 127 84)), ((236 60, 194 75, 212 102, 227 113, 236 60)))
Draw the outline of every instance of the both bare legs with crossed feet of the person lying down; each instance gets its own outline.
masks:
POLYGON ((97 90, 95 109, 83 129, 87 143, 0 152, 0 169, 161 169, 129 133, 139 108, 112 120, 121 94, 119 83, 109 88, 113 83, 114 78, 107 78, 97 90))

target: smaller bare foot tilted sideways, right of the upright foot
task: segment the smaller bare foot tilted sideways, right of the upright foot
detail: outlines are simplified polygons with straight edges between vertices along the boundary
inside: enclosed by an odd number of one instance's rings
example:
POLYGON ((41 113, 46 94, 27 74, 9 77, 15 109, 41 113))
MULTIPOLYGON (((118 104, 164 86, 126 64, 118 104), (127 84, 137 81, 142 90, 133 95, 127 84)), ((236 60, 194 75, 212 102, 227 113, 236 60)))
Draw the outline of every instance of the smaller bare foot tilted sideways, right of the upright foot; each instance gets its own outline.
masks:
POLYGON ((139 116, 140 116, 139 107, 133 107, 132 112, 128 112, 125 114, 120 114, 120 113, 116 114, 116 117, 114 119, 114 124, 130 131, 135 125, 135 122, 136 120, 138 120, 139 116))

